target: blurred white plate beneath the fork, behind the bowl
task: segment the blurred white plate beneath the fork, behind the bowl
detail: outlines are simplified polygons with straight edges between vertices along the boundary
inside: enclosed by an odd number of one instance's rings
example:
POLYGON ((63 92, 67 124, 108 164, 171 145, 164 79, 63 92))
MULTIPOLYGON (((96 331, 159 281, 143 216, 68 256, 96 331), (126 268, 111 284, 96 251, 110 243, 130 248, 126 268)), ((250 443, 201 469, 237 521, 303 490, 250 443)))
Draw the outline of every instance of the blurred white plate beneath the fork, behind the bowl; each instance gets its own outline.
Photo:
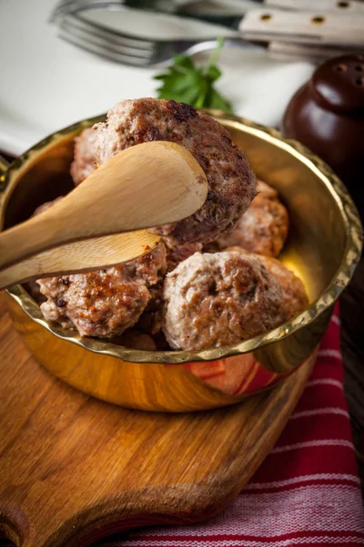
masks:
MULTIPOLYGON (((56 129, 105 112, 122 98, 156 96, 157 69, 124 67, 63 42, 48 19, 55 0, 0 3, 0 150, 20 154, 56 129)), ((225 49, 218 88, 235 112, 278 126, 312 72, 265 52, 225 49)))

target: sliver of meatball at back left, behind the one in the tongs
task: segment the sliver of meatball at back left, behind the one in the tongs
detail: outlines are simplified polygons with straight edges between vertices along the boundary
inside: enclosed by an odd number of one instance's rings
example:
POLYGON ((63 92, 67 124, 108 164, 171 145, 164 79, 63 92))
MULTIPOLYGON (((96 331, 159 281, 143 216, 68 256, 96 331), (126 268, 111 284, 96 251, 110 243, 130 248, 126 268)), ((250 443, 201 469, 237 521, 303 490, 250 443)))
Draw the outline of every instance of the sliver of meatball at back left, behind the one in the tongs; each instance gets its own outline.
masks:
POLYGON ((75 186, 96 170, 95 140, 96 131, 93 128, 84 129, 75 139, 74 160, 70 169, 75 186))

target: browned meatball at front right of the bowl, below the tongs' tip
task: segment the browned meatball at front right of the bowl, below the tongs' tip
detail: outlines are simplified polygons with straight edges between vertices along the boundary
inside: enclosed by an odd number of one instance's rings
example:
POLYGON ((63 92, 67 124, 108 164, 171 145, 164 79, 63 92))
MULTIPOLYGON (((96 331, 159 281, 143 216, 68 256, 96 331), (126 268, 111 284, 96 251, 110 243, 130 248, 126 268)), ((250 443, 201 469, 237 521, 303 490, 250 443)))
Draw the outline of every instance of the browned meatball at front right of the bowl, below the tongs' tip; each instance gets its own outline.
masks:
POLYGON ((242 253, 195 253, 164 285, 163 331, 174 349, 228 346, 283 322, 277 279, 242 253))

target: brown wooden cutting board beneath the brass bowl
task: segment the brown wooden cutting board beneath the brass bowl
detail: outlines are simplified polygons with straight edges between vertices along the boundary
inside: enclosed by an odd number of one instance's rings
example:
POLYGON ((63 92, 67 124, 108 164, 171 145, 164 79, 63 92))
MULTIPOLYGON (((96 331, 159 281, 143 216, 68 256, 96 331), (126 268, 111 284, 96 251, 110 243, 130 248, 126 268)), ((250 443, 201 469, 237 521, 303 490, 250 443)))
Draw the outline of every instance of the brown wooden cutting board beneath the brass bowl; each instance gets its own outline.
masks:
POLYGON ((0 531, 23 547, 83 547, 136 526, 208 519, 274 445, 313 361, 235 407, 127 410, 38 366, 0 297, 0 531))

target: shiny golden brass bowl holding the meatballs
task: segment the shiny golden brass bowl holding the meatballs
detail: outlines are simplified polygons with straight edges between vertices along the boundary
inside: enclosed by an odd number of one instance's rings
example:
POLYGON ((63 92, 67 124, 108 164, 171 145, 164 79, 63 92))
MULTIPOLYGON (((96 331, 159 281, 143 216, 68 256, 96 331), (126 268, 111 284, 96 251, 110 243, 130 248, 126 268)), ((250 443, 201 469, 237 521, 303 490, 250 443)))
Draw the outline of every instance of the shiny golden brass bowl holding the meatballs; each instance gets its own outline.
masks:
MULTIPOLYGON (((129 408, 180 412, 230 405, 273 386, 315 358, 332 306, 358 263, 359 215, 329 167, 274 129, 211 113, 247 150, 258 177, 274 186, 287 205, 290 230, 280 258, 301 277, 311 304, 285 325, 235 346, 147 352, 47 325, 22 286, 8 290, 15 328, 35 359, 94 397, 129 408)), ((36 206, 72 189, 73 139, 99 120, 54 133, 15 160, 0 177, 0 226, 24 221, 36 206)))

